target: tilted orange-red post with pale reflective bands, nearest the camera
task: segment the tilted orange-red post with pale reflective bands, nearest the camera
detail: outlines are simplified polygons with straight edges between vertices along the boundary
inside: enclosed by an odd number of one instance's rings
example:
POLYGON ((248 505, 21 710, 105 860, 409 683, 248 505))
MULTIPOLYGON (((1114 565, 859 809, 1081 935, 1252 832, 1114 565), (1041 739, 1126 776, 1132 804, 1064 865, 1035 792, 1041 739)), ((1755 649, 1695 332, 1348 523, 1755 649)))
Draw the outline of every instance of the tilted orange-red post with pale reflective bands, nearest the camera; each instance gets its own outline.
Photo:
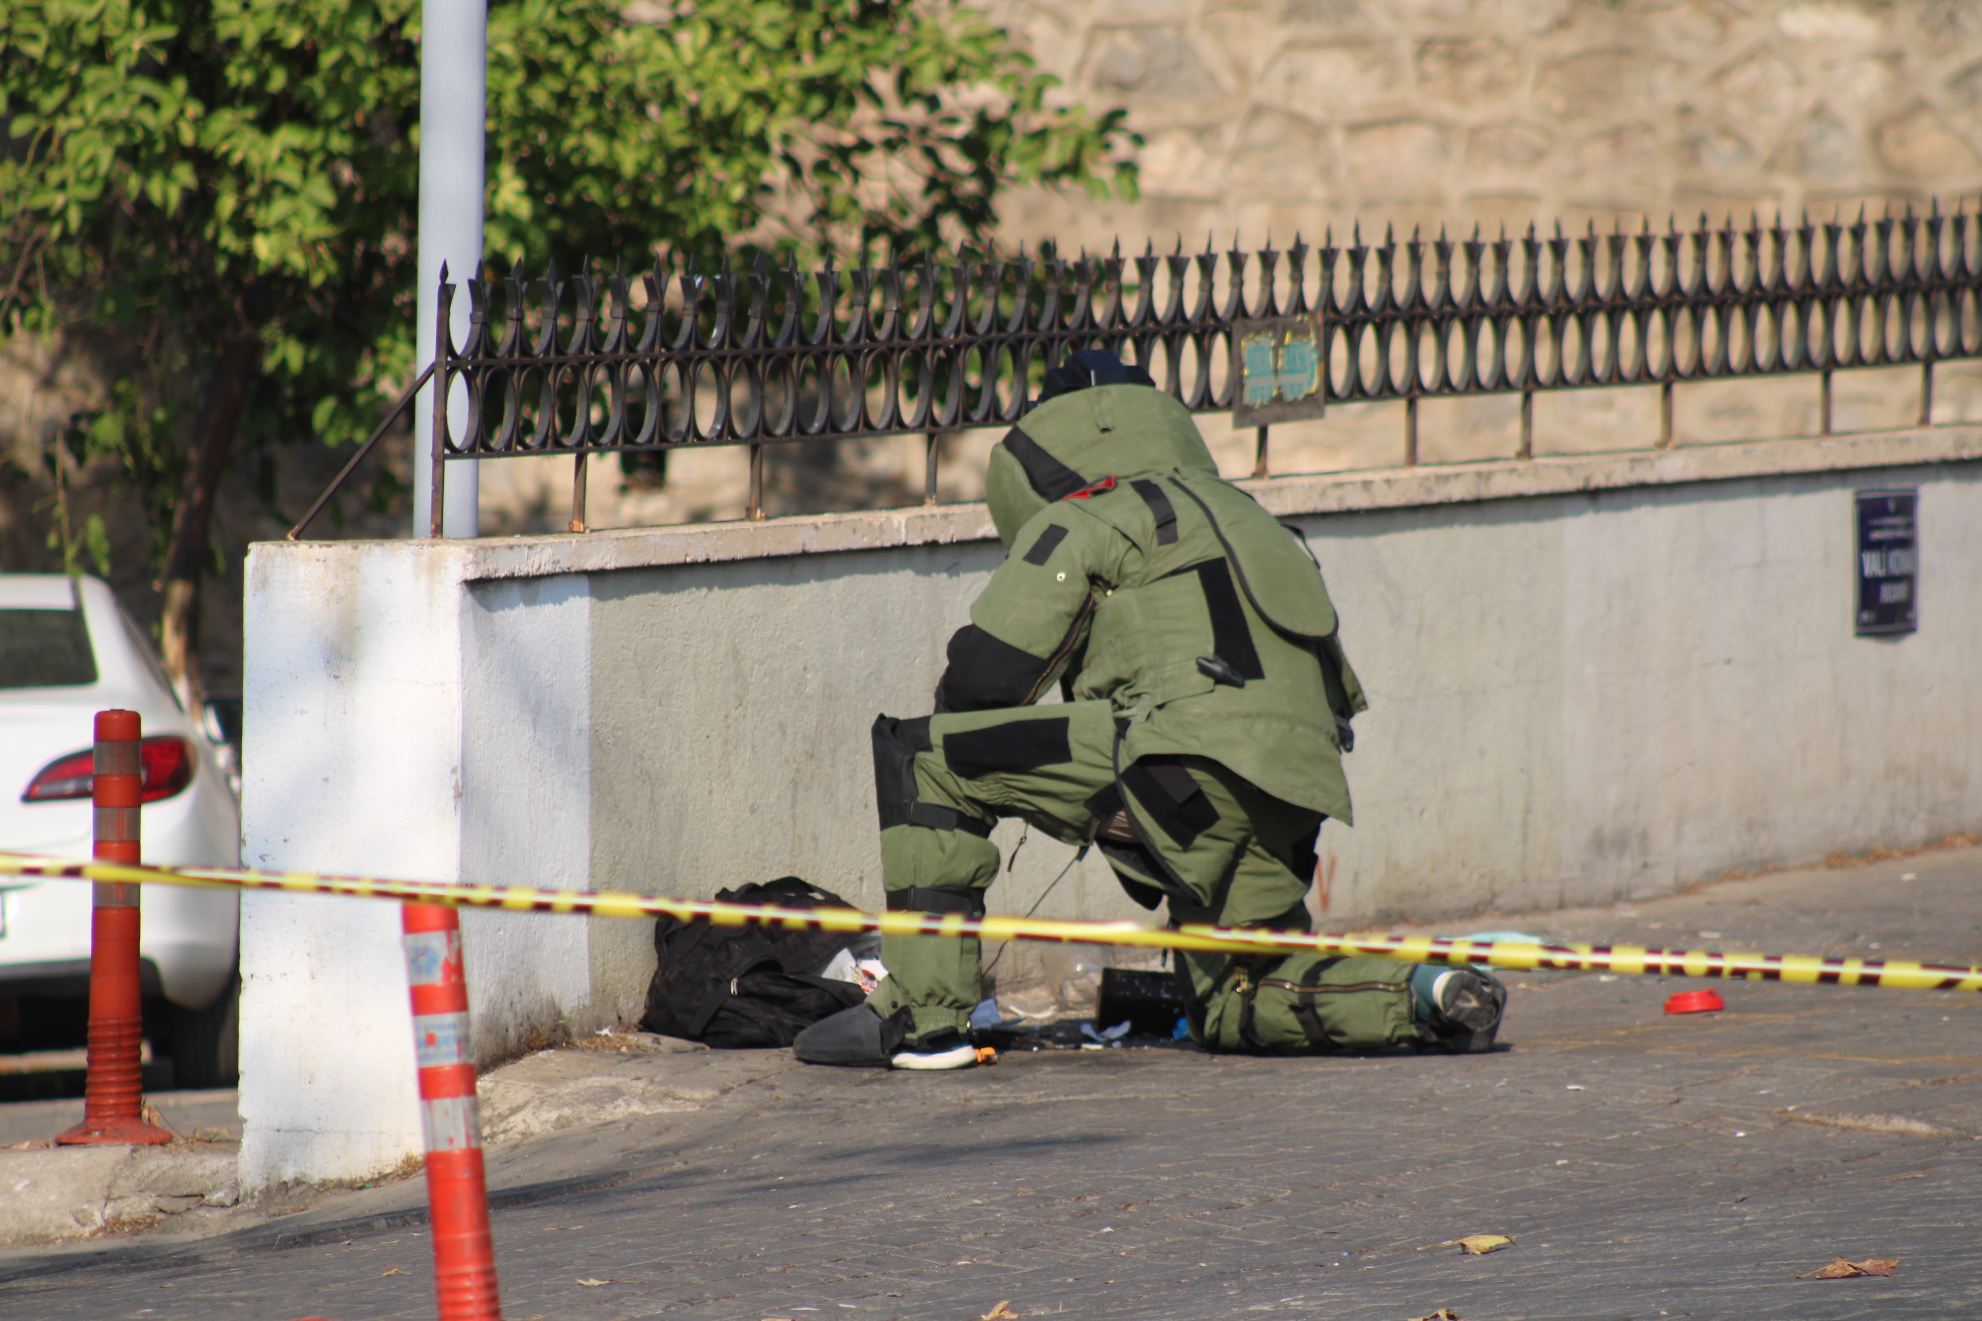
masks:
POLYGON ((468 1052, 468 978, 462 919, 442 903, 400 909, 412 1044, 420 1067, 420 1127, 426 1131, 426 1200, 434 1224, 434 1293, 440 1321, 501 1321, 496 1244, 476 1064, 468 1052))

